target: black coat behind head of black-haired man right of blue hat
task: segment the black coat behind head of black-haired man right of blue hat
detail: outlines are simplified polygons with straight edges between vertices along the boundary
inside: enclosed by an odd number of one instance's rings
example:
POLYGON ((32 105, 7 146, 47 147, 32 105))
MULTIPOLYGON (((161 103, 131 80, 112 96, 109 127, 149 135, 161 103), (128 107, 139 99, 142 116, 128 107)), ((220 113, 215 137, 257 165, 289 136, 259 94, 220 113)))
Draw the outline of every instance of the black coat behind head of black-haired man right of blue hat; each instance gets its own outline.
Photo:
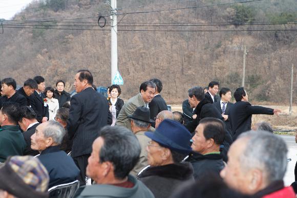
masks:
MULTIPOLYGON (((199 104, 194 110, 194 113, 197 114, 197 117, 192 122, 186 125, 186 128, 193 135, 196 127, 199 125, 200 120, 204 117, 215 117, 222 121, 224 120, 218 109, 213 104, 211 104, 207 98, 204 98, 202 101, 199 102, 199 104)), ((228 161, 227 152, 232 142, 233 141, 230 133, 227 130, 225 130, 225 140, 221 151, 221 155, 225 162, 228 161)))

